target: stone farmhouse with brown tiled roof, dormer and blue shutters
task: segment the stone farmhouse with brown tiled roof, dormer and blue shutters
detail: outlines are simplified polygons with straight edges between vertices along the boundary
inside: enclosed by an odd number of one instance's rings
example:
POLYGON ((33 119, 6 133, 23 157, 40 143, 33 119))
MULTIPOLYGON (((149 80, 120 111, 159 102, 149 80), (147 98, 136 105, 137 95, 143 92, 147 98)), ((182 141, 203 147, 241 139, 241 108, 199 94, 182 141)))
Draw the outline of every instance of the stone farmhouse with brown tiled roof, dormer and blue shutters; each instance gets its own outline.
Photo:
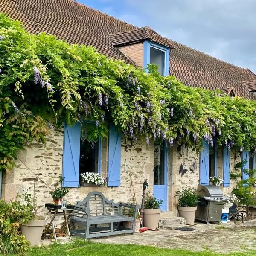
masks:
MULTIPOLYGON (((105 13, 84 6, 75 0, 0 0, 0 12, 23 22, 30 33, 47 32, 70 44, 92 45, 109 58, 146 68, 148 63, 159 66, 163 76, 174 75, 183 84, 219 89, 230 97, 256 99, 256 75, 203 52, 164 38, 150 27, 136 27, 105 13)), ((90 122, 85 123, 90 128, 90 122)), ((235 163, 247 160, 246 168, 254 168, 255 158, 248 151, 227 151, 209 148, 205 143, 201 154, 162 146, 147 147, 139 138, 125 151, 122 134, 110 128, 108 140, 99 140, 94 148, 80 135, 80 126, 63 125, 47 137, 47 145, 30 143, 19 152, 17 167, 3 173, 1 197, 15 198, 17 192, 36 188, 40 211, 49 202, 50 187, 64 178, 62 186, 70 187, 67 200, 76 203, 90 191, 99 190, 115 201, 131 201, 130 173, 134 180, 137 201, 142 196, 142 183, 148 179, 149 189, 163 199, 162 211, 177 215, 175 191, 183 186, 197 188, 209 184, 209 176, 224 179, 224 194, 234 184, 230 171, 235 163), (86 158, 86 160, 82 159, 86 158), (33 173, 32 173, 32 172, 33 173), (108 183, 102 187, 79 186, 79 172, 99 172, 108 183)), ((242 178, 246 178, 241 174, 242 178)))

